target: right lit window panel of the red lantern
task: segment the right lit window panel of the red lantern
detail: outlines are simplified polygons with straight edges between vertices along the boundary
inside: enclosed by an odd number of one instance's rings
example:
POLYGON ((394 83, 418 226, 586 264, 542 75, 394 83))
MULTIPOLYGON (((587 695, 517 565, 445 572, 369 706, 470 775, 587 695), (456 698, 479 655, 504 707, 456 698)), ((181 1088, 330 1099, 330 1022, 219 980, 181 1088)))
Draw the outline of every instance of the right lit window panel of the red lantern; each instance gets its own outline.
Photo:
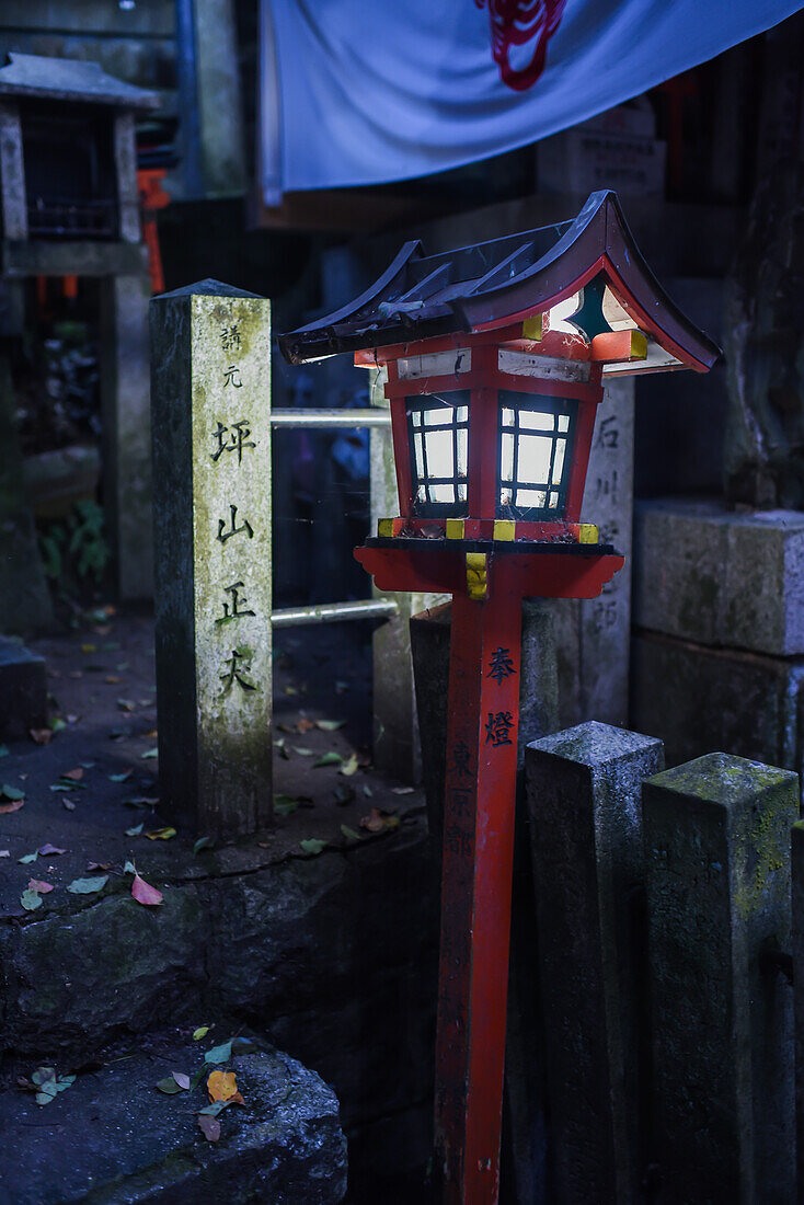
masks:
POLYGON ((561 518, 577 402, 500 392, 499 518, 561 518))

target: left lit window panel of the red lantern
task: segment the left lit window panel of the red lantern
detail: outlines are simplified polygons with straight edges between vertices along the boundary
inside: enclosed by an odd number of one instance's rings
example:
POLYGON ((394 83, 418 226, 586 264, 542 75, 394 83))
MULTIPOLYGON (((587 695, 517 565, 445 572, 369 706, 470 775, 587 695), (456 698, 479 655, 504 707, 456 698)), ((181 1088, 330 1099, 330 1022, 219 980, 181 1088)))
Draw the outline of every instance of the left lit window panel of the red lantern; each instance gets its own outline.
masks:
POLYGON ((411 443, 413 512, 466 513, 469 390, 405 399, 411 443))

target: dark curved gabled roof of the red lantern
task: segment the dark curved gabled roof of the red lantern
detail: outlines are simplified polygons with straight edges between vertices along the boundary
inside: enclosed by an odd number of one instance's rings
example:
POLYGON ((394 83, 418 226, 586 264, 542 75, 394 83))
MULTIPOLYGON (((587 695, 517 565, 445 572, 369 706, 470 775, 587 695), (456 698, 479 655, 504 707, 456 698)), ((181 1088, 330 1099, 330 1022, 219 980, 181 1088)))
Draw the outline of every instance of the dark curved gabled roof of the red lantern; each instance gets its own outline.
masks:
POLYGON ((608 189, 592 193, 576 218, 536 230, 436 255, 424 255, 418 240, 406 242, 360 296, 280 335, 280 347, 301 364, 459 333, 501 333, 576 293, 579 308, 565 317, 589 341, 623 329, 647 339, 641 363, 611 364, 611 371, 705 372, 720 355, 667 295, 608 189))

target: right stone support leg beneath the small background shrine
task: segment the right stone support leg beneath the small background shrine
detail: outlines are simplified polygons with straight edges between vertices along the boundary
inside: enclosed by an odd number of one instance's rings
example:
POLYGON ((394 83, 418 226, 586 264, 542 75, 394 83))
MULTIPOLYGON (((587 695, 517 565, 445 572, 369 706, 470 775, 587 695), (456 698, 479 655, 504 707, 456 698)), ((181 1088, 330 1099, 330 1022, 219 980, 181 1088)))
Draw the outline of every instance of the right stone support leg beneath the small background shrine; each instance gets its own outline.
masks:
POLYGON ((153 593, 149 296, 147 275, 108 276, 101 282, 104 504, 123 599, 151 598, 153 593))

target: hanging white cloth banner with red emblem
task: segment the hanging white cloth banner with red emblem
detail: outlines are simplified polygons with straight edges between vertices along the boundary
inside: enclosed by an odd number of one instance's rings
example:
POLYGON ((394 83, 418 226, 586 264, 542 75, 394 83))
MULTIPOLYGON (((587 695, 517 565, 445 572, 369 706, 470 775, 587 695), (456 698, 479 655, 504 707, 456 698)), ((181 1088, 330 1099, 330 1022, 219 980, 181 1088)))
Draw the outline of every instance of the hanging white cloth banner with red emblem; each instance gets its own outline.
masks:
POLYGON ((790 0, 260 0, 263 194, 535 142, 769 29, 790 0))

